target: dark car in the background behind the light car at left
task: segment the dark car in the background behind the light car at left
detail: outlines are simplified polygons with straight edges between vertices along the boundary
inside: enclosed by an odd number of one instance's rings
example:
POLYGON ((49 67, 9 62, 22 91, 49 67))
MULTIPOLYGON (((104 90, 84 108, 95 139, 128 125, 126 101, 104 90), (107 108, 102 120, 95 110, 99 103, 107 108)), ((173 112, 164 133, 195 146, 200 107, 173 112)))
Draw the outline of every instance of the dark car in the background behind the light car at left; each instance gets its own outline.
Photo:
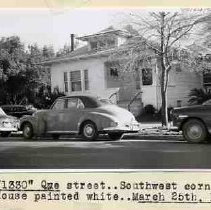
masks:
POLYGON ((1 108, 7 115, 21 118, 24 115, 32 115, 36 109, 33 106, 2 105, 1 108))

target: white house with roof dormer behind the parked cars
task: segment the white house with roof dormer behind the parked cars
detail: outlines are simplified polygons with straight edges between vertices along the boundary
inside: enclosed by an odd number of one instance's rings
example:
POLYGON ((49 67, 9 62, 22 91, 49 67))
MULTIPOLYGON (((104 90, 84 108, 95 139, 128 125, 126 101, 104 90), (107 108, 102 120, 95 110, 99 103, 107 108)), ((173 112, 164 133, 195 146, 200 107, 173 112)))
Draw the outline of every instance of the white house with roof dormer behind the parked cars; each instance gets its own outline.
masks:
MULTIPOLYGON (((83 93, 110 97, 122 107, 127 107, 136 96, 131 104, 135 114, 147 104, 159 109, 161 94, 156 58, 152 58, 144 68, 138 66, 135 73, 124 74, 124 77, 120 76, 118 65, 109 61, 111 54, 120 46, 127 46, 130 38, 128 32, 113 27, 79 37, 79 40, 87 42, 86 46, 46 62, 51 68, 52 90, 57 87, 66 95, 83 93)), ((169 76, 168 106, 186 105, 190 90, 202 87, 202 77, 183 71, 178 64, 174 68, 169 76)))

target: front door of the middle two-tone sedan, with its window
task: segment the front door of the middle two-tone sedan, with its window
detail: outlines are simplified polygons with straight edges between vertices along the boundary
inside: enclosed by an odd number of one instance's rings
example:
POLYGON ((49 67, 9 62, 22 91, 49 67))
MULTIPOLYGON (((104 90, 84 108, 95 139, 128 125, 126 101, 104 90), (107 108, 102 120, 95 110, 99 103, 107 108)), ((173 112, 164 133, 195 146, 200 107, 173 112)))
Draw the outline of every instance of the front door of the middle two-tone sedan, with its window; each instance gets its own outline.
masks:
POLYGON ((52 108, 46 113, 46 132, 60 133, 65 130, 65 99, 57 99, 52 108))

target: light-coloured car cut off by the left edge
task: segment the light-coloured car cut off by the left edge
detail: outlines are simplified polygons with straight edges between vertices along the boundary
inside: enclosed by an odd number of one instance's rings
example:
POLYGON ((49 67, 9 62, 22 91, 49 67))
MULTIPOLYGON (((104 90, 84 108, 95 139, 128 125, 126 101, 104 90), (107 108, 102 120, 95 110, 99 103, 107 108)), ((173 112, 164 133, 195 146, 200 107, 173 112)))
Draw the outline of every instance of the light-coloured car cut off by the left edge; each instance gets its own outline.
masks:
POLYGON ((0 134, 2 137, 7 137, 11 132, 18 131, 19 120, 16 117, 8 116, 0 108, 0 134))

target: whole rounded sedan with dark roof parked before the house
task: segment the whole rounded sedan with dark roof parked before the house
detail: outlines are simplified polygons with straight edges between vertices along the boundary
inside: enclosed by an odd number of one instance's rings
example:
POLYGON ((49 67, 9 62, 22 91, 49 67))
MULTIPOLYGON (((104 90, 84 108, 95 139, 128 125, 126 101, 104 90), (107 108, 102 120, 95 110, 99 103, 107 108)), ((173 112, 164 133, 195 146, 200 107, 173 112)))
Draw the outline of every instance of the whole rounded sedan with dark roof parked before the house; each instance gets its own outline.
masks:
POLYGON ((126 109, 92 96, 58 98, 49 110, 39 110, 21 118, 21 130, 26 139, 50 134, 79 134, 88 140, 108 134, 113 140, 123 133, 138 132, 139 124, 126 109))

